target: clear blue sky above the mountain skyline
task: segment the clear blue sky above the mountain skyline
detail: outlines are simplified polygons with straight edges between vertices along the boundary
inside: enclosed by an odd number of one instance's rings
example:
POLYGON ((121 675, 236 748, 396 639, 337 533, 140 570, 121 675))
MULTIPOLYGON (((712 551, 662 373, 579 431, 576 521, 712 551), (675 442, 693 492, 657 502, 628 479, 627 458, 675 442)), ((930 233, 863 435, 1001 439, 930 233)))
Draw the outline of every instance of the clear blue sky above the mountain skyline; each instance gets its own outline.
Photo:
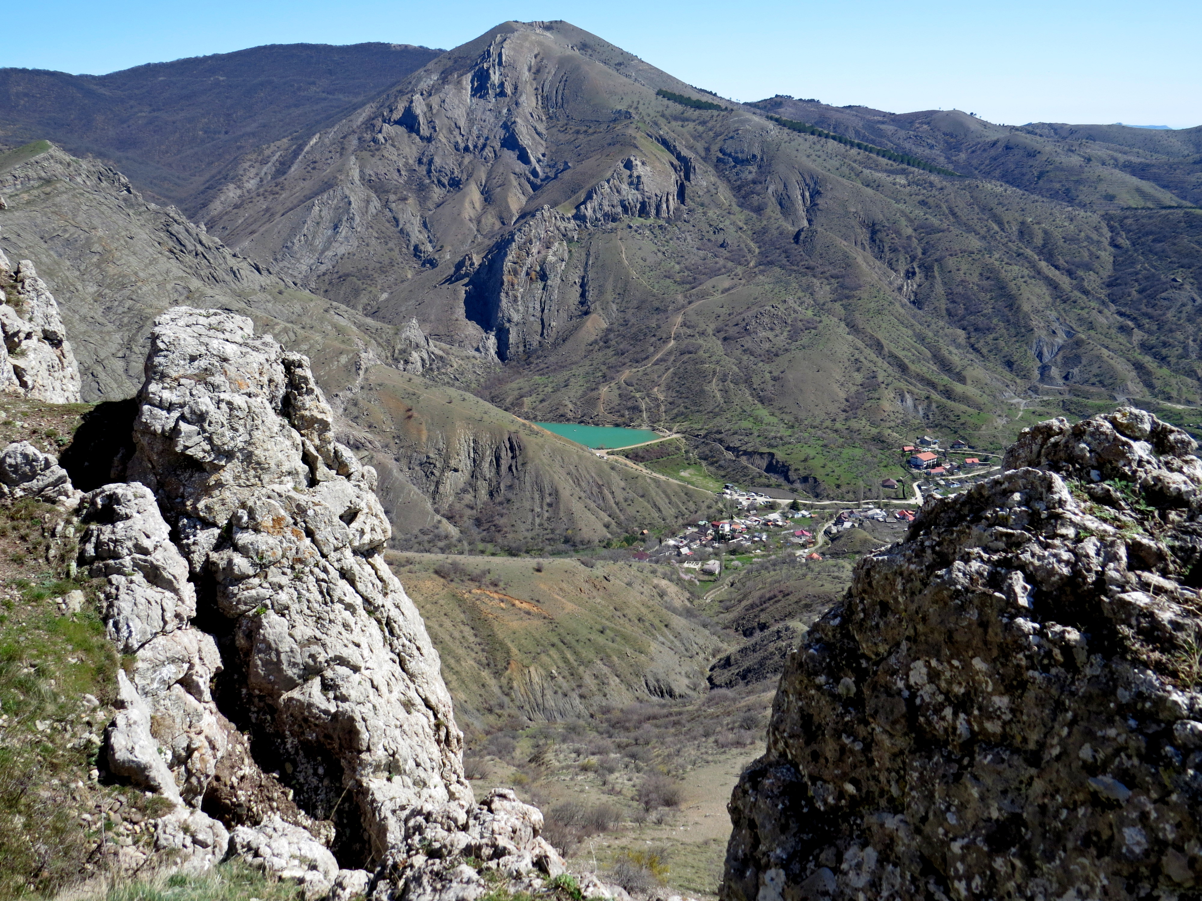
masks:
POLYGON ((262 43, 453 47, 506 19, 567 19, 736 100, 773 94, 995 123, 1202 124, 1202 2, 8 4, 0 65, 103 73, 262 43))

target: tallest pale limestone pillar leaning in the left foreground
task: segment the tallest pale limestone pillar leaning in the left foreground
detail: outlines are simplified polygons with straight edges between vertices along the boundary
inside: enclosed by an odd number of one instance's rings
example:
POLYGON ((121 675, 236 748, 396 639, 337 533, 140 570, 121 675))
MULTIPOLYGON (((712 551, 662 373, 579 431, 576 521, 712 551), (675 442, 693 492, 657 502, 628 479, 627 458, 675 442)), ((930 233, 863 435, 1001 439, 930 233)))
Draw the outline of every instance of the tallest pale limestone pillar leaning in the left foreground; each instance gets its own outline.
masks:
POLYGON ((403 840, 405 810, 470 804, 438 654, 383 562, 375 472, 333 441, 308 360, 250 320, 175 308, 147 375, 130 478, 210 580, 239 700, 302 806, 337 816, 345 853, 368 863, 403 840))

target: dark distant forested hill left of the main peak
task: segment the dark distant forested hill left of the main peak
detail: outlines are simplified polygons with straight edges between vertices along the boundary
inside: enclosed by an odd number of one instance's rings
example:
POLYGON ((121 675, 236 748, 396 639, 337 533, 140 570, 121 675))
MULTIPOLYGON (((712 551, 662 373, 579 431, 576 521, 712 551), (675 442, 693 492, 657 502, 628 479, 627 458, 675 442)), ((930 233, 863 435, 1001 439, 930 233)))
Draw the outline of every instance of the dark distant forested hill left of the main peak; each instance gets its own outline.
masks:
POLYGON ((0 68, 0 143, 49 139, 102 157, 191 211, 239 154, 305 137, 441 50, 391 43, 268 44, 105 76, 0 68), (191 203, 190 203, 191 202, 191 203))

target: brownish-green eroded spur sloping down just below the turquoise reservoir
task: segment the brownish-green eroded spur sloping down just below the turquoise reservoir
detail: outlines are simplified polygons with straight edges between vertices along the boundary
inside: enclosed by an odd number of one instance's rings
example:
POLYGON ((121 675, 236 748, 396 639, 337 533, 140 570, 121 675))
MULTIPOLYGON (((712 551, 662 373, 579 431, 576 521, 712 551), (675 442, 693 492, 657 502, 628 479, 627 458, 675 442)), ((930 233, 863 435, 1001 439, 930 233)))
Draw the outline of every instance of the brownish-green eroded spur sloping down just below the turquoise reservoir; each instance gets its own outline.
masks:
POLYGON ((714 508, 712 494, 601 460, 464 390, 386 366, 367 372, 343 411, 359 431, 349 438, 371 452, 381 473, 416 485, 460 530, 457 542, 441 541, 433 527, 413 536, 419 530, 394 512, 398 541, 409 547, 566 549, 671 527, 714 508))

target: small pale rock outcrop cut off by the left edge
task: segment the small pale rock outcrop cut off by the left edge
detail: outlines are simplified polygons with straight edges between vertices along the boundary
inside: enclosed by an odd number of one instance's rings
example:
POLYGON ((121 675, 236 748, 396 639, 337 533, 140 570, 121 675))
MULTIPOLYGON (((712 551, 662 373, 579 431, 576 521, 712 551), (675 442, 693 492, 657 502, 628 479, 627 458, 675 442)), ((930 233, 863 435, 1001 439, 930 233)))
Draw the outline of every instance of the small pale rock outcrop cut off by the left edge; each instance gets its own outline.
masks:
POLYGON ((0 392, 52 404, 79 402, 79 366, 46 282, 28 259, 0 252, 0 392))

